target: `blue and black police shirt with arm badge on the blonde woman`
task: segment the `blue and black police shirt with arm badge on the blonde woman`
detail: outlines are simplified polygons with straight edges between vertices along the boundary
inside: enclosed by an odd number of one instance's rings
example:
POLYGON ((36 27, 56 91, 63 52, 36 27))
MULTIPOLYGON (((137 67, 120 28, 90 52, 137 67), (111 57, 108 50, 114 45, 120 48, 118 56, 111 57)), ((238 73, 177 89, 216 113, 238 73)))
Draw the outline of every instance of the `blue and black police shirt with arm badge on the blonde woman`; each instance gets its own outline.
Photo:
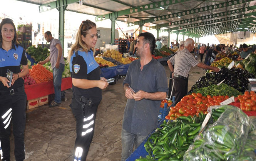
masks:
MULTIPOLYGON (((69 67, 70 72, 72 72, 72 78, 100 80, 100 66, 95 61, 92 50, 89 50, 88 53, 77 51, 77 55, 74 51, 74 54, 70 58, 69 67)), ((76 96, 84 96, 87 99, 91 98, 95 102, 99 102, 102 99, 101 89, 99 87, 81 89, 73 85, 73 92, 76 96)))

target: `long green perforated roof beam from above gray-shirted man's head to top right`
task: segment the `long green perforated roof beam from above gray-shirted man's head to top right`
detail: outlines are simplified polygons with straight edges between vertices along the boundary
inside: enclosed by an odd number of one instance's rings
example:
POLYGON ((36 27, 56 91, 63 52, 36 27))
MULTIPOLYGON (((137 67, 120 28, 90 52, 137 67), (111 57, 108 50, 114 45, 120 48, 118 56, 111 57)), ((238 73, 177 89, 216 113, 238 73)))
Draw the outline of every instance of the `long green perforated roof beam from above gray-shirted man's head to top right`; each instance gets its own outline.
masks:
MULTIPOLYGON (((146 19, 144 21, 145 21, 145 23, 149 23, 149 22, 153 22, 153 21, 166 20, 166 19, 169 19, 169 18, 191 15, 191 14, 199 13, 199 12, 202 12, 202 11, 209 11, 209 10, 213 10, 213 9, 229 7, 229 6, 238 5, 238 4, 242 4, 242 3, 246 3, 246 2, 250 2, 250 1, 253 1, 253 0, 239 0, 239 1, 231 0, 229 2, 219 3, 218 5, 211 5, 211 6, 207 6, 207 7, 196 8, 196 9, 193 9, 193 10, 187 10, 187 11, 172 13, 172 14, 169 14, 169 15, 162 15, 162 16, 158 16, 158 17, 154 17, 154 18, 149 18, 149 19, 146 19)), ((132 23, 134 25, 138 25, 139 21, 132 22, 132 23)))

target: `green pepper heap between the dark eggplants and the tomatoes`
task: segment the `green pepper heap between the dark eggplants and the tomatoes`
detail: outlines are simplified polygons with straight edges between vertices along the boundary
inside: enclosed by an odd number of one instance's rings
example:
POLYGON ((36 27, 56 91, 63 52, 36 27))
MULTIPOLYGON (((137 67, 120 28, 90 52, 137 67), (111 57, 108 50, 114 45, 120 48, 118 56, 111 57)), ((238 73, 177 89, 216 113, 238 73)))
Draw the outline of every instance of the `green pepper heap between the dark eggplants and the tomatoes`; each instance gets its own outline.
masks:
POLYGON ((241 93, 237 89, 234 89, 233 87, 230 87, 229 85, 226 85, 224 83, 220 85, 212 84, 208 87, 202 87, 199 89, 195 88, 192 92, 201 93, 203 96, 228 95, 229 97, 237 97, 239 94, 241 95, 241 93))

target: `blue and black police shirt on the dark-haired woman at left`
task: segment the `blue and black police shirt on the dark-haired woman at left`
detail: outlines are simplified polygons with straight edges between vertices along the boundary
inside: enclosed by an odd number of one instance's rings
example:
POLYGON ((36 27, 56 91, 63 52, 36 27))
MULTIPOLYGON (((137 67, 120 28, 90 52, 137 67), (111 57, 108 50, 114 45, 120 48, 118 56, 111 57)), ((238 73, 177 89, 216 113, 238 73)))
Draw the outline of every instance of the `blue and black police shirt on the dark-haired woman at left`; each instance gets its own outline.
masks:
MULTIPOLYGON (((2 43, 0 43, 0 76, 6 77, 7 69, 13 73, 19 73, 20 64, 28 64, 25 49, 20 44, 18 44, 18 46, 12 44, 12 48, 6 51, 2 48, 2 43)), ((3 83, 0 82, 0 90, 17 89, 22 85, 24 85, 24 80, 19 77, 10 88, 5 87, 3 83)))

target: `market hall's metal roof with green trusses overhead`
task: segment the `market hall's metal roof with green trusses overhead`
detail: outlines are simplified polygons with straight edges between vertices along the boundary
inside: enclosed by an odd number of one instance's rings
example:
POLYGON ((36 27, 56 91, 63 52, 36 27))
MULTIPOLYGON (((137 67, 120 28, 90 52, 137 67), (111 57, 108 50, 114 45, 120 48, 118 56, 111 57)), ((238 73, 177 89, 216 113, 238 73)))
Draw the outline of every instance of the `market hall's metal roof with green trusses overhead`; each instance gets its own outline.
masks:
POLYGON ((40 5, 41 12, 66 5, 66 10, 114 18, 127 26, 181 33, 192 37, 234 31, 256 33, 256 0, 19 0, 40 5))

